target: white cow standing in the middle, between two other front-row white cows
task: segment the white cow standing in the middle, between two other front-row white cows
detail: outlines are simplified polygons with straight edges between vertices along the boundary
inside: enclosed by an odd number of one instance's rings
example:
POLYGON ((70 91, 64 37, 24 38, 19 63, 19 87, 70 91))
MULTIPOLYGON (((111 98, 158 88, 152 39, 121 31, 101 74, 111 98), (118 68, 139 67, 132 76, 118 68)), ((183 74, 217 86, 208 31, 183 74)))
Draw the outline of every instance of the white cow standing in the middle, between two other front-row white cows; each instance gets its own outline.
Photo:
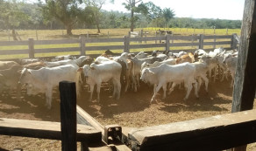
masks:
POLYGON ((92 100, 92 94, 94 86, 96 85, 97 100, 100 100, 100 88, 102 82, 111 81, 114 86, 113 98, 119 100, 121 83, 120 76, 122 72, 122 66, 116 61, 105 61, 102 64, 96 65, 84 65, 77 72, 83 72, 84 76, 88 78, 86 83, 89 84, 89 101, 92 100))

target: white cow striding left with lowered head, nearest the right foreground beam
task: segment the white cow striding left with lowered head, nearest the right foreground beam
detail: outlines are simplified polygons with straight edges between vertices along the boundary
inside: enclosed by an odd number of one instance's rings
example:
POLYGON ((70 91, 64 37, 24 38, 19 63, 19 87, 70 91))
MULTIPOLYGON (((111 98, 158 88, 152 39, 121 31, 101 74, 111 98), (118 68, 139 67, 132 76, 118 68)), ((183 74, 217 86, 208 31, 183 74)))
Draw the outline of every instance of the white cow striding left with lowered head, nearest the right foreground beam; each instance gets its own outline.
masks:
POLYGON ((174 91, 174 86, 181 82, 184 82, 184 86, 187 87, 187 93, 183 100, 188 100, 188 95, 192 90, 192 84, 195 84, 195 95, 197 94, 197 82, 196 82, 196 66, 190 63, 182 63, 179 65, 160 65, 154 68, 145 68, 142 71, 141 78, 143 81, 157 85, 153 93, 153 100, 155 100, 156 94, 159 92, 160 88, 163 87, 164 96, 166 97, 166 89, 168 82, 174 82, 173 86, 170 88, 169 93, 174 91))

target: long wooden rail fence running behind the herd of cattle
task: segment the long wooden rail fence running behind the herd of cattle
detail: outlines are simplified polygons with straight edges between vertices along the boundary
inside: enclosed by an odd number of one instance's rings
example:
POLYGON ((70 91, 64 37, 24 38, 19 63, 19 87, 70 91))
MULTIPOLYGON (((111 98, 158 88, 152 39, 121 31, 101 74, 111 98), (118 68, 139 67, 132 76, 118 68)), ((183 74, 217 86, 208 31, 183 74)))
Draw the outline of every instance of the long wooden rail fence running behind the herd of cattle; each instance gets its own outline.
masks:
POLYGON ((87 51, 121 50, 132 52, 132 50, 143 50, 150 48, 171 50, 171 51, 195 51, 195 49, 212 50, 222 46, 227 50, 235 49, 238 46, 237 34, 224 36, 206 36, 203 34, 192 36, 169 35, 161 37, 139 37, 131 38, 129 35, 124 38, 86 38, 63 40, 34 40, 27 41, 1 41, 0 47, 27 46, 26 49, 1 49, 0 55, 28 54, 28 58, 35 58, 37 53, 52 52, 79 52, 80 55, 88 55, 87 51), (137 42, 140 42, 139 44, 137 42), (144 42, 144 44, 143 44, 144 42), (99 45, 96 45, 99 44, 99 45), (113 44, 117 45, 113 45, 113 44), (110 45, 105 45, 110 44, 110 45), (42 45, 71 45, 70 47, 40 48, 42 45), (74 46, 76 45, 76 46, 74 46), (78 45, 78 46, 77 46, 78 45), (35 48, 37 46, 37 48, 35 48), (182 48, 183 47, 183 48, 182 48), (185 49, 184 49, 185 47, 185 49))

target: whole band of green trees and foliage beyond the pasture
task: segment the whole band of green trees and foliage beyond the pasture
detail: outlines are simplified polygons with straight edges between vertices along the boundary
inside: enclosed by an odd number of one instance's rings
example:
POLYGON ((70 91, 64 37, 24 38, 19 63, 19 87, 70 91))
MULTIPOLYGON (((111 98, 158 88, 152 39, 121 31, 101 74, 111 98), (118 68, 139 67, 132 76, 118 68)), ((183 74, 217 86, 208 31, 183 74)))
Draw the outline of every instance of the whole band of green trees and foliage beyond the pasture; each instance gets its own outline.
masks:
POLYGON ((131 12, 102 10, 101 6, 104 2, 107 0, 46 0, 46 3, 0 0, 0 30, 66 29, 68 34, 72 34, 72 29, 131 28, 132 24, 133 28, 234 29, 241 27, 241 20, 175 17, 174 10, 170 8, 161 9, 152 2, 143 3, 138 0, 134 1, 137 3, 132 7, 127 4, 130 2, 127 0, 124 6, 133 10, 132 17, 131 12))

